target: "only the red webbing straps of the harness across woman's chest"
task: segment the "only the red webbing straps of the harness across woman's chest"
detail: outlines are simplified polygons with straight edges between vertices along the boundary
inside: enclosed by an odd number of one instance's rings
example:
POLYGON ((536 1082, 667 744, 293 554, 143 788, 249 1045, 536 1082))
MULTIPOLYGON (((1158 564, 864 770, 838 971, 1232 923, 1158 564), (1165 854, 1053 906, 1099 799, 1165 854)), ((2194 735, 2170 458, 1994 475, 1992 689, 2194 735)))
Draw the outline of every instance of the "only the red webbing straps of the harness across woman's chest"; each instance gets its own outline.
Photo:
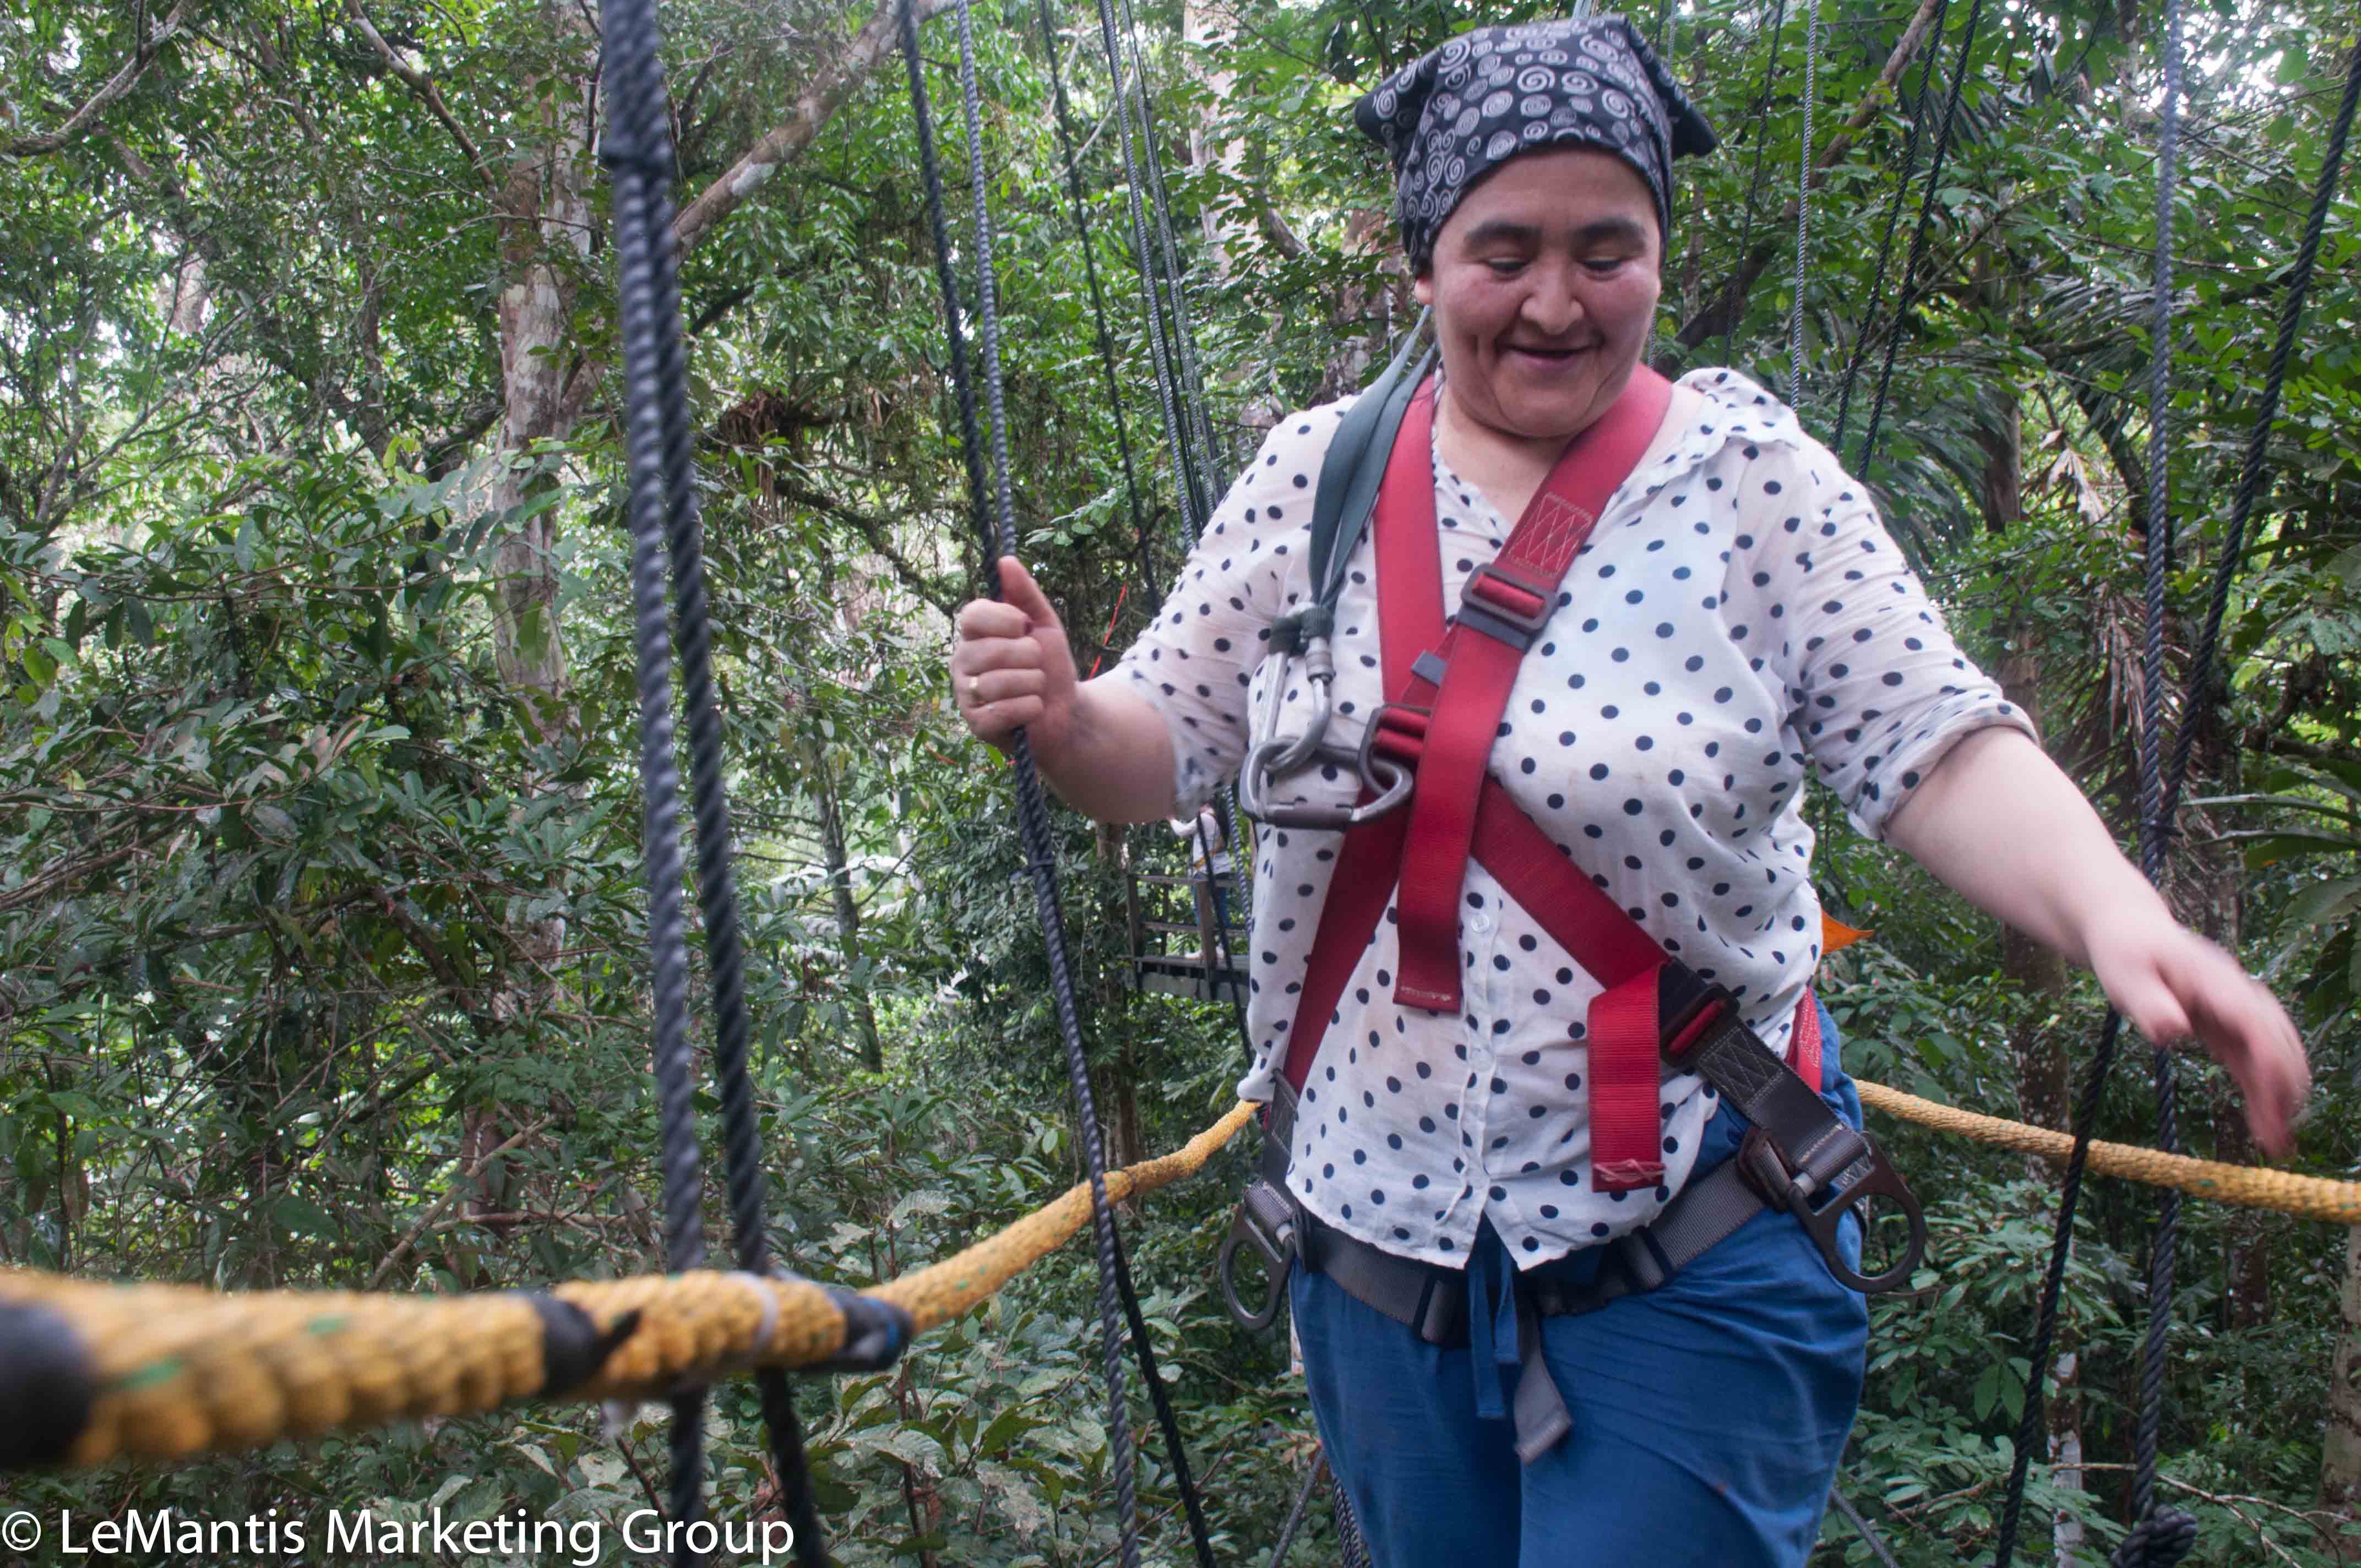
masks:
MULTIPOLYGON (((1603 987, 1589 1008, 1591 1185, 1653 1188, 1665 1178, 1657 1117, 1665 1041, 1657 971, 1667 954, 1639 921, 1575 867, 1487 770, 1518 664, 1558 607, 1561 586, 1598 512, 1655 439, 1672 383, 1641 366, 1605 416, 1558 456, 1499 557, 1478 567, 1443 623, 1428 380, 1412 399, 1376 496, 1376 626, 1384 690, 1372 751, 1414 770, 1407 810, 1348 829, 1320 909, 1303 994, 1287 1037, 1287 1082, 1301 1091, 1320 1037, 1369 935, 1395 902, 1400 973, 1393 999, 1459 1011, 1459 895, 1473 860, 1603 987), (1400 888, 1400 893, 1395 893, 1400 888)), ((1693 1037, 1707 1011, 1683 1020, 1693 1037)), ((1804 1082, 1820 1082, 1818 1011, 1797 1011, 1804 1082), (1809 1030, 1804 1023, 1809 1020, 1809 1030)), ((1686 1039, 1674 1037, 1679 1056, 1686 1039)))

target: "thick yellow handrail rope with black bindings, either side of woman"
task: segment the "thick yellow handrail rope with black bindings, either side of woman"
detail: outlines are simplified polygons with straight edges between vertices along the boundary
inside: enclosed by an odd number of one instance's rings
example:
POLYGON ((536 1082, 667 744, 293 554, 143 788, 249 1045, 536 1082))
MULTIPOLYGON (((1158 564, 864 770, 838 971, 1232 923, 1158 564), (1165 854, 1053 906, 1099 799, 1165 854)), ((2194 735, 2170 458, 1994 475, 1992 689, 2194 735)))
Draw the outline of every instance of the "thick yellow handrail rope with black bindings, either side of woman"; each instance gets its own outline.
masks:
MULTIPOLYGON (((2068 1133, 1856 1079, 1863 1105, 2066 1164, 2068 1133)), ((1178 1150, 1107 1171, 1121 1202, 1204 1169, 1256 1115, 1237 1103, 1178 1150)), ((2193 1197, 2361 1226, 2361 1183, 2125 1143, 2089 1169, 2193 1197)), ((897 1344, 982 1306, 1091 1219, 1091 1188, 866 1292, 687 1270, 545 1294, 220 1294, 0 1273, 0 1466, 182 1459, 543 1400, 666 1398, 751 1370, 829 1367, 864 1337, 897 1344)))

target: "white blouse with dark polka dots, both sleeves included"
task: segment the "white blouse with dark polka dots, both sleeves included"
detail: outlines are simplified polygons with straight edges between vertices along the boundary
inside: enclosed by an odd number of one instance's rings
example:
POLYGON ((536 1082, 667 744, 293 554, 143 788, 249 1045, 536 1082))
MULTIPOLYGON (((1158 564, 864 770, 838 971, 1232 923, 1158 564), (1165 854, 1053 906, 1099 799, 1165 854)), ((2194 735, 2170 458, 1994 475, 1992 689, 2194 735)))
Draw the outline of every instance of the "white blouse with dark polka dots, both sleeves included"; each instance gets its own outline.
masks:
MULTIPOLYGON (((1674 401, 1525 654, 1492 772, 1785 1051, 1820 959, 1804 779, 1818 775, 1877 836, 1962 734, 2033 730, 1953 645, 1868 491, 1785 404, 1735 371, 1693 371, 1681 387, 1698 397, 1674 401)), ((1270 623, 1310 595, 1313 486, 1343 411, 1273 430, 1114 673, 1171 730, 1183 815, 1237 772, 1265 704, 1280 734, 1303 730, 1306 682, 1265 652, 1270 623)), ((1511 524, 1440 458, 1435 520, 1457 605, 1511 524)), ((1348 746, 1381 701, 1372 576, 1365 538, 1336 605, 1329 739, 1348 746)), ((1313 770, 1275 793, 1343 803, 1355 789, 1348 772, 1313 770)), ((1247 1098, 1270 1098, 1339 843, 1256 836, 1247 1098)), ((1294 1195, 1348 1235, 1445 1266, 1466 1259, 1483 1219, 1523 1263, 1650 1221, 1688 1178, 1714 1093, 1669 1077, 1665 1183, 1594 1193, 1582 1020, 1596 982, 1476 862, 1461 1015, 1393 1004, 1395 935, 1388 909, 1320 1044, 1289 1150, 1294 1195)))

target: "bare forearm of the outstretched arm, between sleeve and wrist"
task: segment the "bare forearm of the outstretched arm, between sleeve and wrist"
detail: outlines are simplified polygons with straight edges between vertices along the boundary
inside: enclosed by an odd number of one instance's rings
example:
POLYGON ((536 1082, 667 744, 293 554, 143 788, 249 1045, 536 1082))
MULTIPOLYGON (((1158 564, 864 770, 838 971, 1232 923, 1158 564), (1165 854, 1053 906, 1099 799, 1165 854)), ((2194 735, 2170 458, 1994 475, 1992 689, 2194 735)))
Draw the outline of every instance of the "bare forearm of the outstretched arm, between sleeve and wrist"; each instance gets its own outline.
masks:
POLYGON ((2021 730, 1976 730, 1886 822, 1886 838, 1986 914, 2089 963, 2089 933, 2156 888, 2075 782, 2021 730))

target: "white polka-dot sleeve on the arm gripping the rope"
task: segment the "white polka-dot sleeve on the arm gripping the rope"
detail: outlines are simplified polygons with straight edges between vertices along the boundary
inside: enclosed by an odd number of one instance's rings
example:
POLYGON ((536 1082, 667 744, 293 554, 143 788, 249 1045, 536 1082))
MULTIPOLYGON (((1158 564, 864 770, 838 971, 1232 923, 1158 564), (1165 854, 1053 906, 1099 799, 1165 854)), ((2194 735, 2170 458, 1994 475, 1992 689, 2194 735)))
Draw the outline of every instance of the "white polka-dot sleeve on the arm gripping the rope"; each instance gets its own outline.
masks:
POLYGON ((1249 682, 1270 623, 1308 593, 1313 491, 1343 409, 1294 413, 1270 432, 1110 675, 1171 732, 1176 815, 1192 817, 1247 756, 1249 682))

